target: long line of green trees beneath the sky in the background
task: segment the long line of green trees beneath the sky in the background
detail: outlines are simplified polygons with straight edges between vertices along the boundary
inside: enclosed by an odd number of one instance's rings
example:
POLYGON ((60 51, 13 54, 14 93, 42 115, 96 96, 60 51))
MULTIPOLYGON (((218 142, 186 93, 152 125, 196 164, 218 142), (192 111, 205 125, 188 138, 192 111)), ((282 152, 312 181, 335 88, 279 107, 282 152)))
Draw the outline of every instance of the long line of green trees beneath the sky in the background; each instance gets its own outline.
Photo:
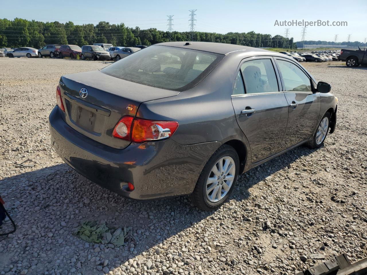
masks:
POLYGON ((255 32, 226 34, 209 32, 166 32, 155 28, 131 28, 121 24, 101 21, 97 25, 29 21, 15 18, 0 19, 0 48, 33 47, 39 49, 47 44, 90 45, 109 43, 116 46, 151 45, 168 41, 206 41, 237 44, 250 47, 273 47, 295 49, 293 38, 271 36, 255 32))

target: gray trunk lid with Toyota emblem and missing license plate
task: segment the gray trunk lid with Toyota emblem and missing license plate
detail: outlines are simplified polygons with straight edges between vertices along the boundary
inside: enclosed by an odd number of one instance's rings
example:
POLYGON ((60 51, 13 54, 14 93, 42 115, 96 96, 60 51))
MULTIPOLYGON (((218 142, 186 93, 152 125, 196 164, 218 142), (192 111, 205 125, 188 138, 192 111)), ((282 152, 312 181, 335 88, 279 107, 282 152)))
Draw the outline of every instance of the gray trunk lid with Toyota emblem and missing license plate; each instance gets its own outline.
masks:
POLYGON ((65 103, 66 123, 97 142, 120 149, 130 144, 112 136, 121 117, 135 117, 142 102, 179 94, 99 71, 62 76, 59 87, 65 103))

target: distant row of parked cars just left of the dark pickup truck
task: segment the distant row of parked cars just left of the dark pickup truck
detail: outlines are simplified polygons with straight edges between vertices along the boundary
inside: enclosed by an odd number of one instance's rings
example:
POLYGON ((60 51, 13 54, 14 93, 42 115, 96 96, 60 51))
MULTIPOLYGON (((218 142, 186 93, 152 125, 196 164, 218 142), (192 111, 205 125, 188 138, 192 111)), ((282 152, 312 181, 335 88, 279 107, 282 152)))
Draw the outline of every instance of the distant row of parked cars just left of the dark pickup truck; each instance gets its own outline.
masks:
POLYGON ((291 56, 293 59, 298 62, 326 62, 326 61, 338 61, 340 51, 314 51, 314 52, 280 52, 281 54, 285 54, 291 56))

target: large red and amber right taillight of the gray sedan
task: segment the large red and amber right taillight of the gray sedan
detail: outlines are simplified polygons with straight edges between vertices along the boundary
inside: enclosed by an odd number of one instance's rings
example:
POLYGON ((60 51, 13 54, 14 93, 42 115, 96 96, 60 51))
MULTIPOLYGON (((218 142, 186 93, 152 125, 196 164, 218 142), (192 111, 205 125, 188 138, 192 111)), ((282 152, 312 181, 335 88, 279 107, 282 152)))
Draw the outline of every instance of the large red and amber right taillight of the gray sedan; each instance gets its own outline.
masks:
POLYGON ((112 135, 131 142, 142 143, 151 140, 166 139, 178 128, 176 121, 145 120, 125 116, 116 124, 112 135))

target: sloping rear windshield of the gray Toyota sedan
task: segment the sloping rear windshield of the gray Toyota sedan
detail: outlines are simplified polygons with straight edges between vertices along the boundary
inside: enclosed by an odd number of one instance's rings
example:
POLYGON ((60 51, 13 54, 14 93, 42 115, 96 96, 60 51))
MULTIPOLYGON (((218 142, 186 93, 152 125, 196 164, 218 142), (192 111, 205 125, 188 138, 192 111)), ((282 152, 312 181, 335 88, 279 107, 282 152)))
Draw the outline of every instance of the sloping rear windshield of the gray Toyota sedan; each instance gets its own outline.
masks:
POLYGON ((101 70, 131 82, 173 91, 199 83, 224 55, 153 45, 101 70))

